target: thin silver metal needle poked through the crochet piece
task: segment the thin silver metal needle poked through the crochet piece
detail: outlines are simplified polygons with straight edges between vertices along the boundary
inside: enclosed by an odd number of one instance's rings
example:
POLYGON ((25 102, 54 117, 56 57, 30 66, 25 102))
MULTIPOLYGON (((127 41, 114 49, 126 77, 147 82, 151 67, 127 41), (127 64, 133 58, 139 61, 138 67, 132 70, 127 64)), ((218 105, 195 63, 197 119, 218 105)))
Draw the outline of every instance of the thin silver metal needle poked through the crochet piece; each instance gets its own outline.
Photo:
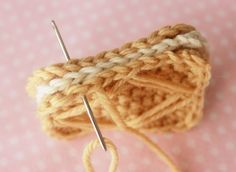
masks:
MULTIPOLYGON (((63 51, 63 53, 64 53, 64 55, 66 57, 66 60, 69 61, 70 60, 69 53, 68 53, 68 51, 66 49, 66 46, 65 46, 65 44, 63 42, 63 39, 61 37, 61 34, 59 32, 59 29, 57 28, 57 25, 56 25, 54 20, 52 20, 52 26, 53 26, 53 29, 54 29, 54 31, 56 33, 56 36, 57 36, 59 44, 60 44, 60 46, 62 48, 62 51, 63 51)), ((91 107, 90 107, 90 105, 88 103, 88 99, 87 99, 86 96, 82 96, 82 100, 83 100, 83 103, 85 105, 85 108, 86 108, 87 114, 89 116, 89 119, 90 119, 90 121, 91 121, 91 123, 93 125, 94 130, 95 130, 95 133, 96 133, 96 135, 98 137, 98 140, 99 140, 103 150, 106 151, 107 150, 106 144, 104 142, 104 139, 103 139, 102 133, 101 133, 99 127, 98 127, 98 124, 96 122, 96 119, 95 119, 95 117, 93 115, 93 111, 92 111, 92 109, 91 109, 91 107)))

